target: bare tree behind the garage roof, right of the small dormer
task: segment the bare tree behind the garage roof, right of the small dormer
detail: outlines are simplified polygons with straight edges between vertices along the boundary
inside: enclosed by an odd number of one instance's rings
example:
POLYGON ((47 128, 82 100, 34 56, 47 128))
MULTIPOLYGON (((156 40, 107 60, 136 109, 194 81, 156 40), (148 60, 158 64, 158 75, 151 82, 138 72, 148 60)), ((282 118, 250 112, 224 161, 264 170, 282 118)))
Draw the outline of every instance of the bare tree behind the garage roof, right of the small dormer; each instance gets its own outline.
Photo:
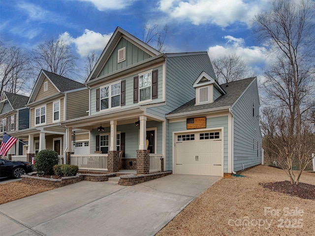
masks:
POLYGON ((229 83, 236 80, 254 76, 244 60, 236 54, 229 54, 212 61, 219 84, 229 83))

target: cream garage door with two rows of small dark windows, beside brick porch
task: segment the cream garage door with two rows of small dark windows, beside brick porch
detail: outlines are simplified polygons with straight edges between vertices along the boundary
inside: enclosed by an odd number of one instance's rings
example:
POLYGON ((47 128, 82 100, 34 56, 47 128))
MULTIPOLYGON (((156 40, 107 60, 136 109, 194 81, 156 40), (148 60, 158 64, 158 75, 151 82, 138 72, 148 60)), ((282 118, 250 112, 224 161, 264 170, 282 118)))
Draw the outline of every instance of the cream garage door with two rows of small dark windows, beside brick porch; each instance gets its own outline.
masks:
POLYGON ((178 134, 175 153, 176 174, 222 175, 221 131, 178 134))

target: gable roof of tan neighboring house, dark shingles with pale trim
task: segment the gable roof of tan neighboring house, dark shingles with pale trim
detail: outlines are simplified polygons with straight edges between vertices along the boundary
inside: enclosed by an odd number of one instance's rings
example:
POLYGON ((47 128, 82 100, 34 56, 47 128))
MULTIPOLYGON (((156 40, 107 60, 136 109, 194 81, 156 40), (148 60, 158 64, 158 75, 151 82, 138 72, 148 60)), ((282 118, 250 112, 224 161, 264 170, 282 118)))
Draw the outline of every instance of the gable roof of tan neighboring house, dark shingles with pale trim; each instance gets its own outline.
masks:
POLYGON ((84 84, 81 84, 77 81, 68 79, 61 75, 57 75, 55 73, 42 69, 38 75, 38 78, 36 80, 35 86, 32 90, 28 103, 31 103, 34 101, 45 77, 52 83, 52 85, 58 90, 58 92, 65 92, 65 91, 70 91, 73 89, 86 88, 84 84))

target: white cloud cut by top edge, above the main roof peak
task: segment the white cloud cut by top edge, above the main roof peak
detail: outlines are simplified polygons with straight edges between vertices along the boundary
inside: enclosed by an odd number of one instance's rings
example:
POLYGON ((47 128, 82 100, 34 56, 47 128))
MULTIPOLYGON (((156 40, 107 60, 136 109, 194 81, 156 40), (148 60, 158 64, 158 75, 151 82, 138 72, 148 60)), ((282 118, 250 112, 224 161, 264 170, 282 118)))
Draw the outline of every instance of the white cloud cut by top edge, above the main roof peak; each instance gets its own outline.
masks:
POLYGON ((95 5, 99 11, 119 10, 130 6, 135 0, 80 0, 88 1, 95 5))

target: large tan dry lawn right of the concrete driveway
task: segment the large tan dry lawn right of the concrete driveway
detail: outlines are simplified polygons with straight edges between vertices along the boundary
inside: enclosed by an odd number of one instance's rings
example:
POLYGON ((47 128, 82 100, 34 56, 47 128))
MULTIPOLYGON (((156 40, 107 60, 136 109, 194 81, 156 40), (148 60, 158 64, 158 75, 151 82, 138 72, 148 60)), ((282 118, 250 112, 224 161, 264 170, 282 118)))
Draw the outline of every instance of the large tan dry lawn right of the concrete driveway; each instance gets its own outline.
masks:
MULTIPOLYGON (((315 201, 273 192, 259 183, 288 180, 283 170, 257 166, 246 177, 222 178, 199 195, 157 236, 311 236, 315 201)), ((315 184, 314 173, 300 182, 315 184)))

